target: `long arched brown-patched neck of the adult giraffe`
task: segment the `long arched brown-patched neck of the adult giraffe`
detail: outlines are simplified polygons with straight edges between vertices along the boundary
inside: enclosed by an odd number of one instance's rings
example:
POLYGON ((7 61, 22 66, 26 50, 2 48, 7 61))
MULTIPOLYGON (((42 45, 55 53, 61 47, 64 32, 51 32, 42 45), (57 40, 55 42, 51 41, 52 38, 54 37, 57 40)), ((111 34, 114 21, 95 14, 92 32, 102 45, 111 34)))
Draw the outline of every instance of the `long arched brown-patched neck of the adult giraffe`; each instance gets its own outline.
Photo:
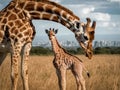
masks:
POLYGON ((18 7, 21 7, 25 15, 29 19, 43 19, 61 23, 68 29, 74 25, 75 21, 79 21, 79 18, 73 14, 70 10, 48 0, 42 1, 26 1, 20 3, 18 7))

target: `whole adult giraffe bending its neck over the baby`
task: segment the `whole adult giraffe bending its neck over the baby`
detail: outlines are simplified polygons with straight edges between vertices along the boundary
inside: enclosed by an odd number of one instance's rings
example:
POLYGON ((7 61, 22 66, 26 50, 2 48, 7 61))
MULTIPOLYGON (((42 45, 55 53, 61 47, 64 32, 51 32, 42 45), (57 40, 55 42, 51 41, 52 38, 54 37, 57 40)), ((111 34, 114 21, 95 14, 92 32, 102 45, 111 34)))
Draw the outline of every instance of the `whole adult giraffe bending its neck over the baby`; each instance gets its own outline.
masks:
POLYGON ((48 0, 12 0, 0 11, 0 65, 10 52, 12 90, 17 89, 20 55, 23 86, 25 90, 29 90, 27 64, 31 43, 35 36, 32 19, 51 20, 66 26, 75 34, 86 55, 89 58, 92 56, 91 45, 94 39, 95 21, 92 26, 89 25, 89 18, 87 24, 81 23, 70 10, 48 0))

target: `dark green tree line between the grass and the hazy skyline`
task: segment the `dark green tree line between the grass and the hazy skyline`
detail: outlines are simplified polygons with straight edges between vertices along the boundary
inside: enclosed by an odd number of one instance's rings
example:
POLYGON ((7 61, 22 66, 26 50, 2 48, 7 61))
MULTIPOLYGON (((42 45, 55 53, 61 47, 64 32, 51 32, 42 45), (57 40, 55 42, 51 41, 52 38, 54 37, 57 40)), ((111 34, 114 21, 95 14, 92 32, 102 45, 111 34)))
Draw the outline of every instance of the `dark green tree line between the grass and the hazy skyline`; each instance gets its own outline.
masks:
MULTIPOLYGON (((71 54, 84 54, 82 48, 65 48, 71 54)), ((94 54, 120 54, 120 47, 97 47, 93 49, 94 54)), ((44 48, 40 46, 32 47, 31 55, 53 55, 51 48, 44 48)))

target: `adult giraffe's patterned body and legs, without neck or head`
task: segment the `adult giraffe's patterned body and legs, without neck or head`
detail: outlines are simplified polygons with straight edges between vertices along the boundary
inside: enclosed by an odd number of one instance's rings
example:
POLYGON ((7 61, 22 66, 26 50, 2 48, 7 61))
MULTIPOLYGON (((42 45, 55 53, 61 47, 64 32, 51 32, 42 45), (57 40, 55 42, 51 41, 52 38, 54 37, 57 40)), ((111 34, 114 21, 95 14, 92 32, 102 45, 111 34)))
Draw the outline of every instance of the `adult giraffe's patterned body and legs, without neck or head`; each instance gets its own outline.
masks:
POLYGON ((18 58, 21 57, 21 76, 24 90, 28 86, 28 56, 31 43, 35 35, 34 26, 31 24, 21 9, 15 7, 14 2, 0 12, 0 65, 11 53, 11 90, 17 90, 18 58))

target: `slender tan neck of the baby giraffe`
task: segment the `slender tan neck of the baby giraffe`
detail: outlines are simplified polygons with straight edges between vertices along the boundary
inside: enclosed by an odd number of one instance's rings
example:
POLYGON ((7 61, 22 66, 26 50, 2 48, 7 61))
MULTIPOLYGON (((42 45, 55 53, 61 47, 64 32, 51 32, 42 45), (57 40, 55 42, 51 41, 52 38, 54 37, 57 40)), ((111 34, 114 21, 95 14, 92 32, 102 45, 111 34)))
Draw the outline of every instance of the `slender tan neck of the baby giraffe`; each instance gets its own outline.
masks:
POLYGON ((51 39, 51 44, 52 44, 52 49, 53 49, 55 54, 64 52, 55 36, 51 39))

